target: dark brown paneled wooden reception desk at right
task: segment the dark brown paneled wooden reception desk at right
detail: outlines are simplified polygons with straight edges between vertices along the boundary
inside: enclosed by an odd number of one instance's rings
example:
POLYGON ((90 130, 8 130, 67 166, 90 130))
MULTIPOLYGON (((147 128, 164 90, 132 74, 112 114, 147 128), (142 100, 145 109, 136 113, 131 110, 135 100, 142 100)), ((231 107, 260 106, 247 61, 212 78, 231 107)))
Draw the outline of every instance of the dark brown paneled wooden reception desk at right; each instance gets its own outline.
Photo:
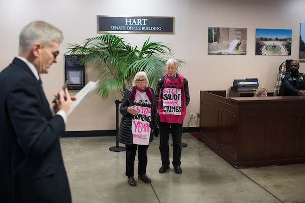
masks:
POLYGON ((305 96, 200 91, 199 140, 236 167, 305 163, 305 96))

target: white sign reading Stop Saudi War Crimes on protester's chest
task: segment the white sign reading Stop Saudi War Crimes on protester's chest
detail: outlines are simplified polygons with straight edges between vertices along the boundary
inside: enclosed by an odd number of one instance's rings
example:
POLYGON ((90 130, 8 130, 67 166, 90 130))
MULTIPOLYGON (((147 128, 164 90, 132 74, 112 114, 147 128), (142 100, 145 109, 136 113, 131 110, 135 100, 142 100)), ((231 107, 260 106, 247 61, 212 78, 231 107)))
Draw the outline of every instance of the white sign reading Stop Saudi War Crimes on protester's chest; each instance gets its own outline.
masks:
POLYGON ((163 114, 181 115, 181 89, 164 88, 163 90, 163 114))

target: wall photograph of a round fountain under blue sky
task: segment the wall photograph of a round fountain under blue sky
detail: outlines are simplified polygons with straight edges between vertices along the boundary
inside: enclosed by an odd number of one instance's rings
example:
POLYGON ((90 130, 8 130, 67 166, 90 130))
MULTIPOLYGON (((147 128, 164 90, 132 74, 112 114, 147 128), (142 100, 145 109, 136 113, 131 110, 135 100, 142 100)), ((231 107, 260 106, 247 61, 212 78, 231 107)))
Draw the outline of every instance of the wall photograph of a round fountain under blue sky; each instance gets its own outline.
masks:
POLYGON ((291 55, 291 29, 256 29, 255 55, 291 55))

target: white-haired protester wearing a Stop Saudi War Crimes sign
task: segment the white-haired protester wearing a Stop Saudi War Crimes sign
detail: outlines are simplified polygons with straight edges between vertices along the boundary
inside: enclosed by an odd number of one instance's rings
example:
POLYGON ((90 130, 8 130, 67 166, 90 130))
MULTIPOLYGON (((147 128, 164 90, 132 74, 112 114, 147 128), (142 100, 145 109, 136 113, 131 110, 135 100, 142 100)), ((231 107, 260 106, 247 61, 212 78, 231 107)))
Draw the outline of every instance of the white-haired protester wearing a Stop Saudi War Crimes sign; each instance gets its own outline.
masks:
POLYGON ((190 102, 189 85, 187 79, 177 74, 178 61, 170 58, 166 62, 167 74, 157 83, 155 92, 158 101, 158 113, 160 117, 160 153, 162 166, 159 173, 163 174, 169 169, 169 130, 173 139, 174 171, 182 173, 181 164, 181 136, 182 122, 186 115, 186 109, 190 102))

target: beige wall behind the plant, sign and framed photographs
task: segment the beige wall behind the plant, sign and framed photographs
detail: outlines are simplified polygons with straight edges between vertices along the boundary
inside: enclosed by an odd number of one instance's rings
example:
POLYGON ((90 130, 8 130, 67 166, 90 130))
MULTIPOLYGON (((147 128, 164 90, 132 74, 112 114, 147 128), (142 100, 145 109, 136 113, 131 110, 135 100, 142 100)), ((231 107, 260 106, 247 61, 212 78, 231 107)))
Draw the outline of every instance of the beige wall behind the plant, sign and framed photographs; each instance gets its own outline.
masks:
MULTIPOLYGON (((258 78, 260 86, 273 90, 278 67, 286 59, 298 59, 299 27, 304 22, 301 0, 0 0, 0 71, 18 54, 18 36, 23 26, 33 20, 47 21, 64 32, 60 54, 65 44, 82 43, 98 36, 97 15, 109 16, 173 16, 174 35, 117 34, 133 46, 151 40, 165 42, 174 50, 175 58, 187 64, 179 71, 189 80, 191 102, 189 113, 199 113, 200 90, 229 90, 234 79, 258 78), (247 28, 247 55, 207 55, 208 27, 247 28), (256 28, 292 29, 291 56, 256 56, 256 28)), ((305 72, 305 64, 300 64, 305 72)), ((87 79, 96 81, 98 72, 88 67, 87 79)), ((42 76, 48 100, 53 98, 64 81, 63 57, 58 57, 48 75, 42 76)), ((71 91, 71 94, 76 92, 71 91)), ((90 95, 68 117, 67 131, 115 129, 115 99, 120 93, 101 99, 90 95)), ((196 125, 193 121, 191 126, 196 125)))

